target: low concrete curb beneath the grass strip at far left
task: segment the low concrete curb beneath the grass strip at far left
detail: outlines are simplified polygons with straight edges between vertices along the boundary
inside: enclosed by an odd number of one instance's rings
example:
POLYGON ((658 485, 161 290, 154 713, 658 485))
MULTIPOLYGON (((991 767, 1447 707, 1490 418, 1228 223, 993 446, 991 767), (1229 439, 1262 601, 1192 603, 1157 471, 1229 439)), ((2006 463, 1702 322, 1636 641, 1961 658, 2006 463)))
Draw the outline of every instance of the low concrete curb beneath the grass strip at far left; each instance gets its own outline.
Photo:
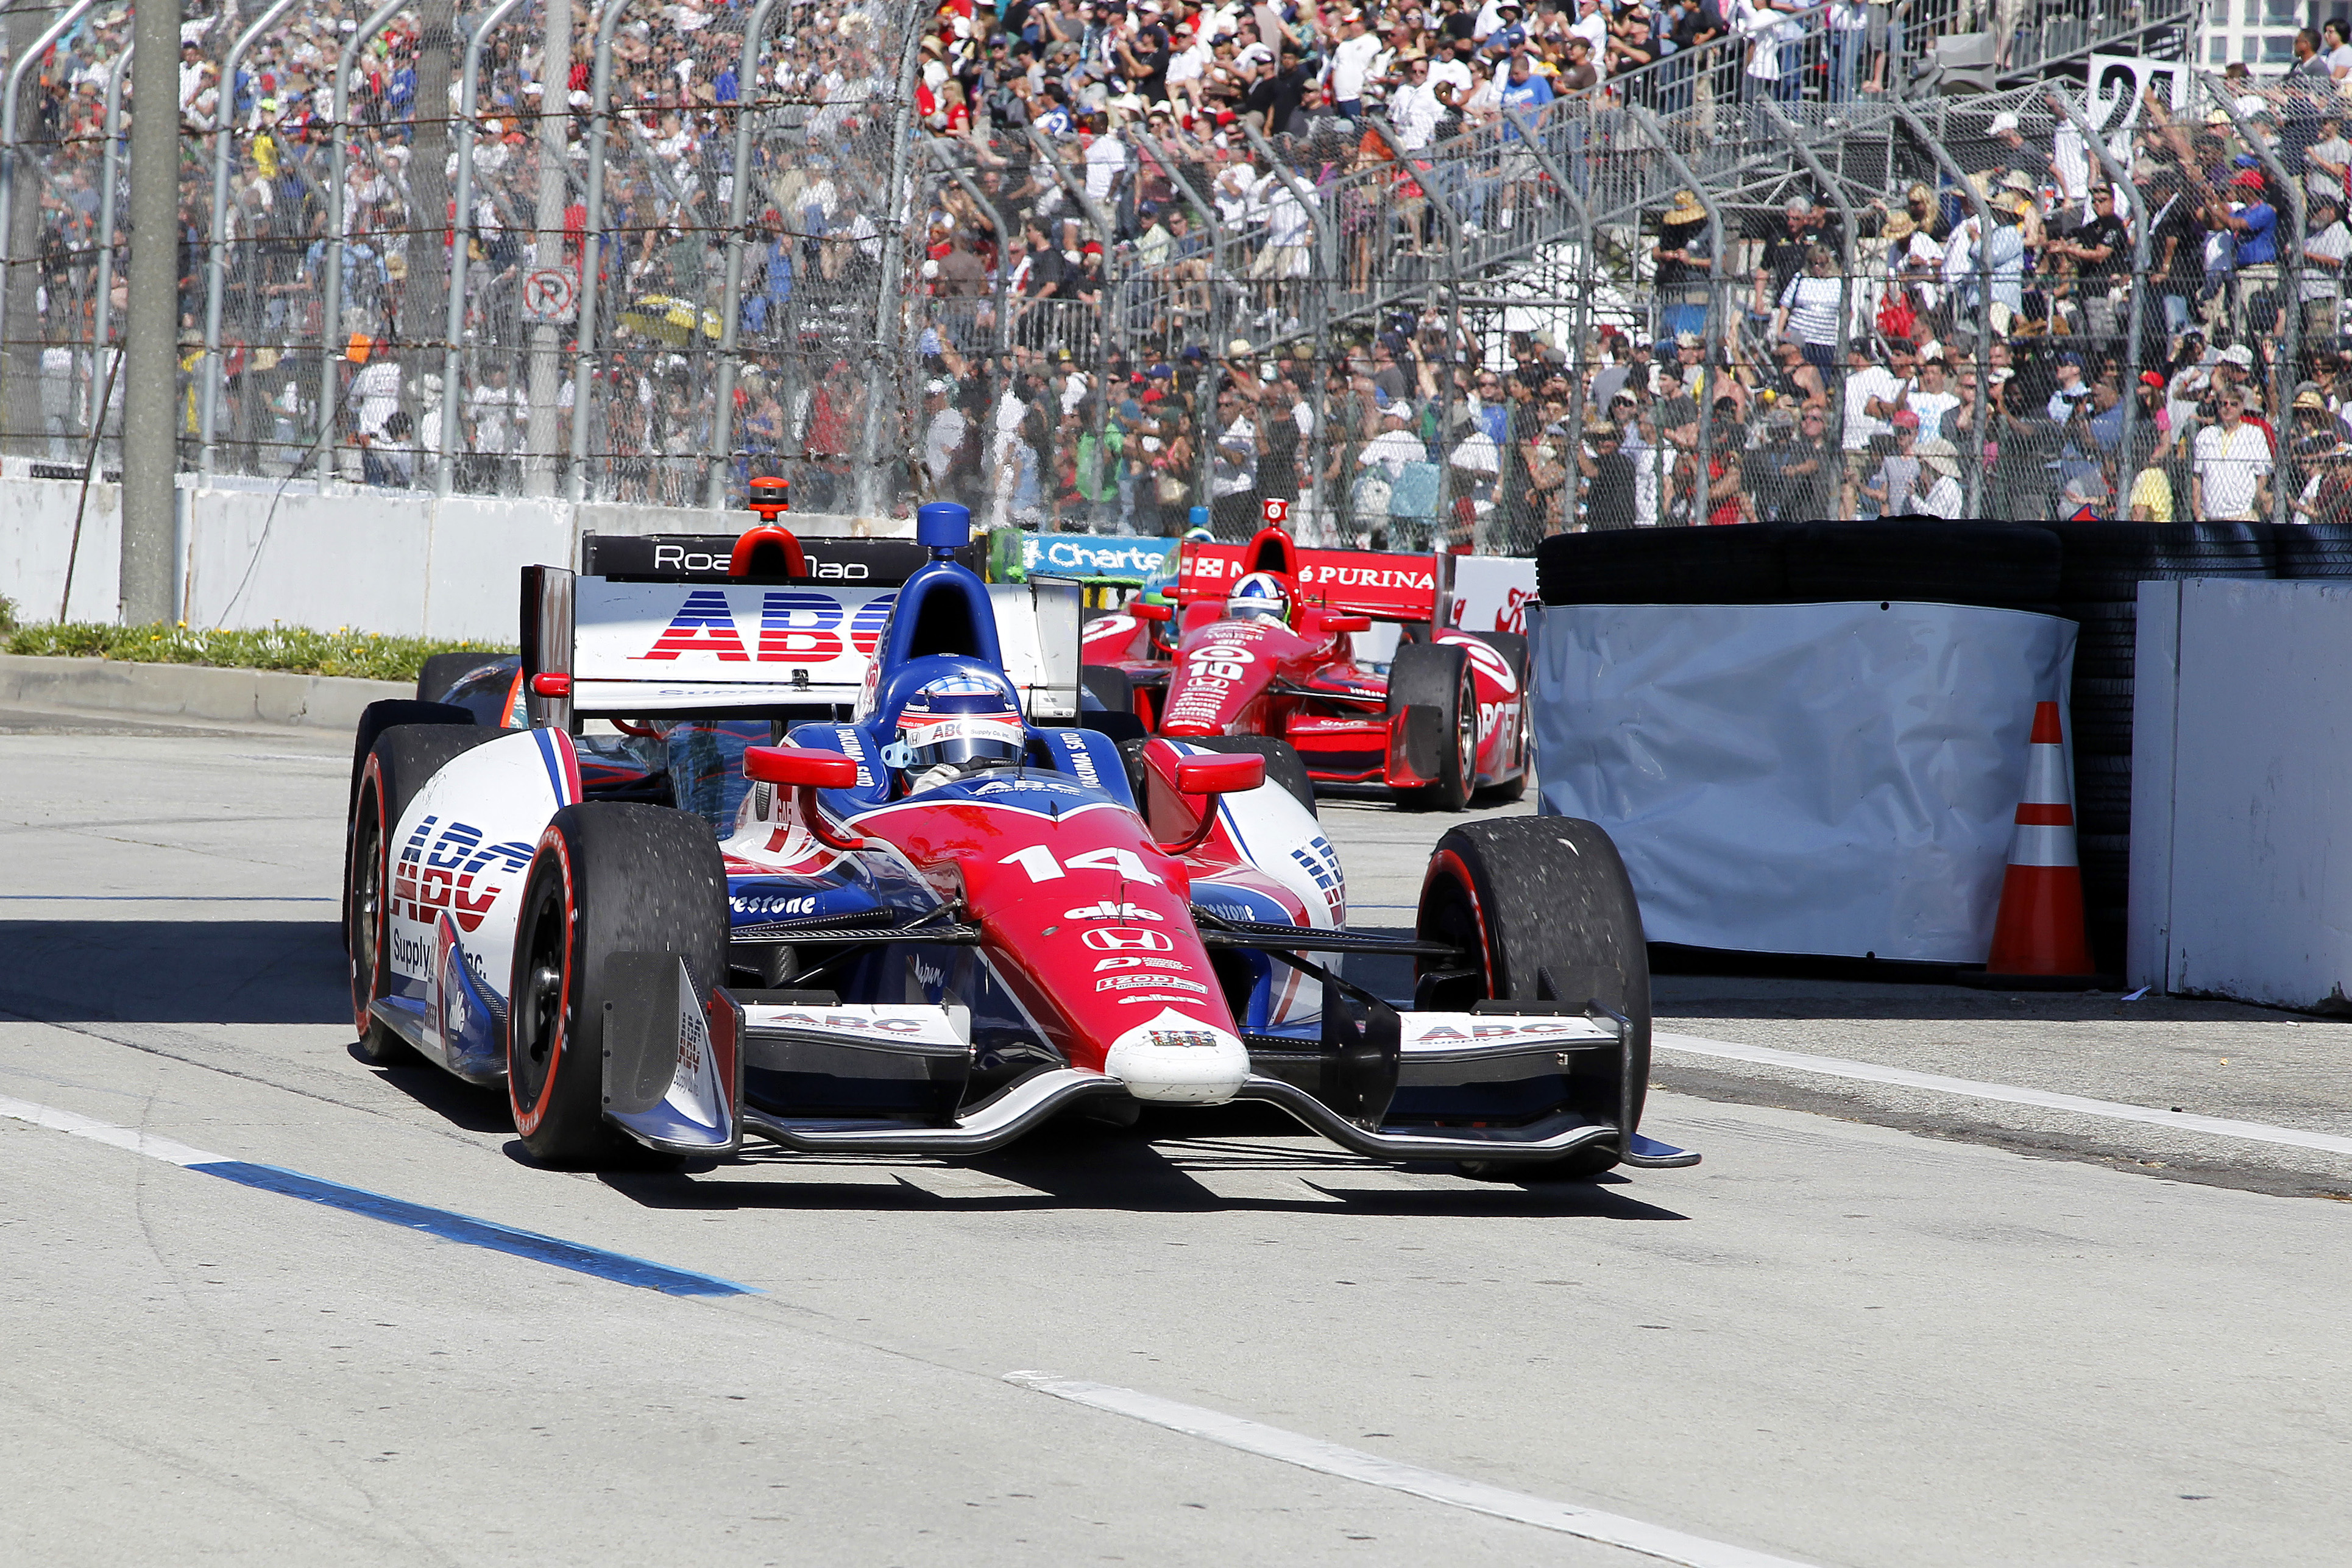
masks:
POLYGON ((221 724, 355 729, 360 710, 416 696, 405 682, 212 665, 143 665, 120 658, 0 654, 0 703, 151 712, 221 724))

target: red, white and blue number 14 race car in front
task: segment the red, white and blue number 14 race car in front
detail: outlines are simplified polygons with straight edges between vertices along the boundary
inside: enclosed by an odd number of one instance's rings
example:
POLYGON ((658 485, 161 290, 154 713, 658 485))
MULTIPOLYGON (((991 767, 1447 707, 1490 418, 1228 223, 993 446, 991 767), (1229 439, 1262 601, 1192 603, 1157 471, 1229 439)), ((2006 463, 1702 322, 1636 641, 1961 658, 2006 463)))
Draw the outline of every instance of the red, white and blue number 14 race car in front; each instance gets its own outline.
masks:
POLYGON ((1599 827, 1456 827, 1411 936, 1348 931, 1265 757, 1152 738, 1136 795, 1073 722, 1075 592, 988 588, 967 534, 924 508, 929 559, 861 588, 774 527, 703 569, 524 569, 524 729, 362 719, 360 1053, 503 1084, 550 1166, 1232 1100, 1381 1159, 1696 1164, 1637 1131, 1649 966, 1599 827), (1411 959, 1411 1006, 1350 954, 1411 959))

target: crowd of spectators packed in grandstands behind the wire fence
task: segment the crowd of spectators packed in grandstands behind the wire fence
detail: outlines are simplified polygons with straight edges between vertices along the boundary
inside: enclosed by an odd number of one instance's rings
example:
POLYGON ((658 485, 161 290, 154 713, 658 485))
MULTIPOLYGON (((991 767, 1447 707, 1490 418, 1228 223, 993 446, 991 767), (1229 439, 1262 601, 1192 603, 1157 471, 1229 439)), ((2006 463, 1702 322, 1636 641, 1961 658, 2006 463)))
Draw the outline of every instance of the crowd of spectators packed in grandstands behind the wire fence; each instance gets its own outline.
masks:
MULTIPOLYGON (((183 122, 191 136, 235 132, 223 465, 306 461, 329 353, 346 477, 430 482, 449 418, 461 489, 527 489, 534 465, 553 475, 572 444, 569 353, 560 378, 534 362, 553 334, 532 331, 520 282, 576 268, 583 249, 590 12, 574 9, 560 71, 527 12, 487 40, 473 212, 445 207, 437 233, 419 190, 447 202, 459 139, 419 82, 447 75, 454 108, 456 52, 428 59, 419 12, 362 42, 343 320, 325 322, 329 78, 353 9, 289 16, 226 85, 216 63, 238 19, 186 28, 183 122), (564 118, 574 169, 560 254, 543 259, 548 115, 564 118), (440 162, 437 181, 419 155, 440 162), (466 336, 445 395, 447 299, 409 280, 445 280, 456 237, 466 336)), ((2046 115, 1999 113, 1950 148, 1973 193, 1922 155, 1926 176, 1860 212, 1853 235, 1825 193, 1797 190, 1785 209, 1740 209, 1717 256, 1708 212, 1684 193, 1644 230, 1632 287, 1581 341, 1566 313, 1545 331, 1503 331, 1494 315, 1458 320, 1428 289, 1315 343, 1298 329, 1303 289, 1364 292, 1390 263, 1392 235, 1350 244, 1364 233, 1343 200, 1352 172, 1381 165, 1435 190, 1446 148, 1486 136, 1482 190, 1446 193, 1454 233, 1508 226, 1557 197, 1534 160, 1512 155, 1505 110, 1541 125, 1613 101, 1672 108, 1677 92, 1752 96, 1757 82, 1832 103, 1872 96, 1903 66, 1903 12, 1875 0, 950 0, 915 21, 910 132, 948 158, 913 160, 913 313, 903 362, 884 364, 873 310, 908 19, 868 0, 781 16, 748 82, 746 7, 644 7, 619 31, 593 494, 701 496, 724 209, 741 174, 753 223, 727 468, 736 484, 788 473, 802 508, 849 505, 870 416, 896 425, 880 440, 884 461, 903 454, 884 487, 896 503, 955 496, 1023 527, 1176 531, 1207 508, 1214 527, 1240 531, 1258 501, 1296 498, 1329 538, 1524 550, 1559 529, 1764 517, 2227 517, 2267 508, 2272 487, 2291 491, 2296 515, 2352 505, 2352 454, 2336 451, 2352 435, 2338 418, 2352 393, 2336 287, 2352 254, 2340 28, 2298 42, 2284 82, 2234 82, 2263 148, 2230 115, 2183 122, 2152 94, 2129 193, 2046 115), (1672 71, 1677 56, 1686 71, 1672 71), (746 99, 769 108, 739 172, 746 99), (2272 162, 2307 197, 2300 247, 2281 244, 2293 209, 2272 162), (2152 266, 2133 313, 2140 221, 2152 266), (1317 270, 1317 223, 1341 235, 1336 277, 1317 270), (1228 254, 1218 233, 1249 244, 1228 254), (2300 256, 2293 360, 2286 249, 2300 256), (1155 287, 1138 292, 1138 277, 1155 287), (1209 310, 1221 289, 1244 301, 1249 336, 1204 331, 1230 320, 1209 310)), ((120 28, 96 26, 59 42, 40 73, 42 136, 101 139, 115 47, 120 28)), ((92 315, 94 169, 80 158, 42 195, 42 322, 71 386, 52 442, 101 381, 101 360, 71 350, 92 315)), ((191 433, 209 233, 195 169, 181 235, 191 433)), ((1409 249, 1444 242, 1435 219, 1404 230, 1409 249)), ((120 294, 120 266, 115 280, 120 294)))

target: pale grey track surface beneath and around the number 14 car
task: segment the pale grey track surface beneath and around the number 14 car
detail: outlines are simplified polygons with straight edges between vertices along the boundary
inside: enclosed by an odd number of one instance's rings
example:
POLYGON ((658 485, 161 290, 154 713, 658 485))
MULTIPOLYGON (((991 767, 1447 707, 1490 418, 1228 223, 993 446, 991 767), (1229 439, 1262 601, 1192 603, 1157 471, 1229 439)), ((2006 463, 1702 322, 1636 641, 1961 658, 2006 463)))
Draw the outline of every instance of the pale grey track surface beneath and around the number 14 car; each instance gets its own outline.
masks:
MULTIPOLYGON (((1590 1185, 1237 1112, 557 1175, 350 1056, 343 743, 0 731, 0 1561, 2345 1561, 2347 1154, 1661 1051, 1705 1164, 1590 1185)), ((1324 823, 1406 922, 1444 818, 1324 823)), ((1658 1011, 2352 1131, 2336 1023, 1658 1011)))

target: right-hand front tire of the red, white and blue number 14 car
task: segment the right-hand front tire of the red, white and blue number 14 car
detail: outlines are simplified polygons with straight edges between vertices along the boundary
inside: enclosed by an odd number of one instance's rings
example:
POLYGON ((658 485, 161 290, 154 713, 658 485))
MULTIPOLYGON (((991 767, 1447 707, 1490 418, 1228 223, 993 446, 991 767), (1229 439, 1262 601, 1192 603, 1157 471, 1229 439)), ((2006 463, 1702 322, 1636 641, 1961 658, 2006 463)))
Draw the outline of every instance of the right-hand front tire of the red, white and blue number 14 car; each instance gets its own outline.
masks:
MULTIPOLYGON (((1449 827, 1430 851, 1414 922, 1421 940, 1472 954, 1470 973, 1423 961, 1414 1004, 1468 1011, 1475 1001, 1599 1001, 1632 1020, 1625 1088, 1632 1126, 1649 1091, 1649 945, 1625 860, 1602 827, 1573 816, 1508 816, 1449 827)), ((1444 964, 1437 959, 1435 964, 1444 964)), ((1623 1150, 1585 1147, 1543 1166, 1482 1168, 1470 1175, 1588 1178, 1623 1150)))

